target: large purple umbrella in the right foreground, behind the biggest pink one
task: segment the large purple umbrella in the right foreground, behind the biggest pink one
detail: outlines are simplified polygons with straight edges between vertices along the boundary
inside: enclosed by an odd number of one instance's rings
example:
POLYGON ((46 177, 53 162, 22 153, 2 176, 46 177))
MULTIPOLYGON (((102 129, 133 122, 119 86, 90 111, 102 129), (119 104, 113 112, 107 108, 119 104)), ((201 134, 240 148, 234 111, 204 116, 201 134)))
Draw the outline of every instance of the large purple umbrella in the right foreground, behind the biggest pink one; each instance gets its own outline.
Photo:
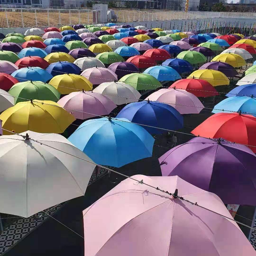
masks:
POLYGON ((256 158, 247 146, 197 137, 158 160, 163 176, 178 175, 224 204, 256 205, 256 158))

